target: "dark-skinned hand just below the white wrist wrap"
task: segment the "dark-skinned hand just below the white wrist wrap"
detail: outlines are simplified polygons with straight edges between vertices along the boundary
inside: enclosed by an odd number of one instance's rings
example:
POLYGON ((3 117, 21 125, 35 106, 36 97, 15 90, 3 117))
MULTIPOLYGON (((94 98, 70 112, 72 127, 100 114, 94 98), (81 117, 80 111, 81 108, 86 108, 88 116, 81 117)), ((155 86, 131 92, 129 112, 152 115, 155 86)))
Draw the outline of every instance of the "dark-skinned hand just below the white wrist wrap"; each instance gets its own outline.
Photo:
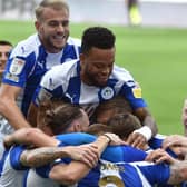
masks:
POLYGON ((127 144, 144 150, 145 146, 147 145, 147 140, 144 135, 139 132, 132 132, 129 135, 127 144))

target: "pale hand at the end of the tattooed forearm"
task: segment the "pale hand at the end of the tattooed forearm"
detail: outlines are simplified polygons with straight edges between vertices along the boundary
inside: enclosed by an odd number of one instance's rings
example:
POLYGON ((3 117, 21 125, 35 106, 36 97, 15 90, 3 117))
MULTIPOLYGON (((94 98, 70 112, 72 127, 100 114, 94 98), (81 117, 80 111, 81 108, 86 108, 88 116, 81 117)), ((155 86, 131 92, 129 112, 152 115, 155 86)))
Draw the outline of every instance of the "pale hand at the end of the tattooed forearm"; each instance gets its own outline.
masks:
POLYGON ((95 167, 99 159, 98 147, 95 144, 73 146, 69 154, 72 159, 82 161, 90 168, 95 167))

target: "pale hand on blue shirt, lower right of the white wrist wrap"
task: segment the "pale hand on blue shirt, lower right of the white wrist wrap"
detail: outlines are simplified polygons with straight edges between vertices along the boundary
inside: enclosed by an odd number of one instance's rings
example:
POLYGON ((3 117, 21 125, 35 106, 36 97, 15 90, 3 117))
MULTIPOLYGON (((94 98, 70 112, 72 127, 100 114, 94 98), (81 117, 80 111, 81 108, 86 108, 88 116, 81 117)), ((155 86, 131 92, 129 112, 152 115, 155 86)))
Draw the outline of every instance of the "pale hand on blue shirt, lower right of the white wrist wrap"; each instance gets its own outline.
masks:
POLYGON ((168 164, 174 164, 176 161, 175 158, 173 158, 169 154, 167 154, 164 149, 156 149, 146 157, 146 161, 154 161, 156 164, 160 163, 168 163, 168 164))

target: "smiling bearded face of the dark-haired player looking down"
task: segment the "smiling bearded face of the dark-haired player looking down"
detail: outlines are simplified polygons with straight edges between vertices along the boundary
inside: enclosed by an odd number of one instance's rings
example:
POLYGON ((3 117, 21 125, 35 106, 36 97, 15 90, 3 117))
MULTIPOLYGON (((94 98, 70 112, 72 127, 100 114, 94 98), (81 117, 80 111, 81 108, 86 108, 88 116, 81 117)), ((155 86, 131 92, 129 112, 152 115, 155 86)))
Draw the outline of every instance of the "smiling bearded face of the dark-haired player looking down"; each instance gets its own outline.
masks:
POLYGON ((80 55, 81 80, 89 86, 105 87, 112 71, 115 48, 92 47, 88 53, 80 55))

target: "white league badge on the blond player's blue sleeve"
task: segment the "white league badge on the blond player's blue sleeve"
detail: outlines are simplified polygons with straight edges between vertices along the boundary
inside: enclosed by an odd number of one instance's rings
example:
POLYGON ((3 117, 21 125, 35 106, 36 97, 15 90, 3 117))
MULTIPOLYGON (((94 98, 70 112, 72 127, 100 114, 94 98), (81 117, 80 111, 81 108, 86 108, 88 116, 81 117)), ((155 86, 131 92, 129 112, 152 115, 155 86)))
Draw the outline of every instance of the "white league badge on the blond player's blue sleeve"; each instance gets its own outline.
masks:
POLYGON ((18 76, 21 73, 26 61, 19 58, 13 58, 12 63, 10 66, 10 73, 18 76))

